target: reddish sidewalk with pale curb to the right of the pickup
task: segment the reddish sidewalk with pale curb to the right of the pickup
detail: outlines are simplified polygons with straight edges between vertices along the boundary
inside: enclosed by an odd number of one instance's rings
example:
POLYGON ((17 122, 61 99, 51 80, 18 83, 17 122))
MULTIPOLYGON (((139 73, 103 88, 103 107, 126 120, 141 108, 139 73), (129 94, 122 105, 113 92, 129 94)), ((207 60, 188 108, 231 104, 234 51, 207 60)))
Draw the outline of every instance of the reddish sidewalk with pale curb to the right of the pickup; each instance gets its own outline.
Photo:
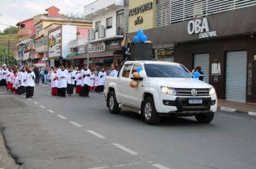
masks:
POLYGON ((228 100, 218 100, 218 107, 220 110, 227 110, 229 112, 250 112, 249 114, 256 115, 256 103, 243 103, 228 100))

